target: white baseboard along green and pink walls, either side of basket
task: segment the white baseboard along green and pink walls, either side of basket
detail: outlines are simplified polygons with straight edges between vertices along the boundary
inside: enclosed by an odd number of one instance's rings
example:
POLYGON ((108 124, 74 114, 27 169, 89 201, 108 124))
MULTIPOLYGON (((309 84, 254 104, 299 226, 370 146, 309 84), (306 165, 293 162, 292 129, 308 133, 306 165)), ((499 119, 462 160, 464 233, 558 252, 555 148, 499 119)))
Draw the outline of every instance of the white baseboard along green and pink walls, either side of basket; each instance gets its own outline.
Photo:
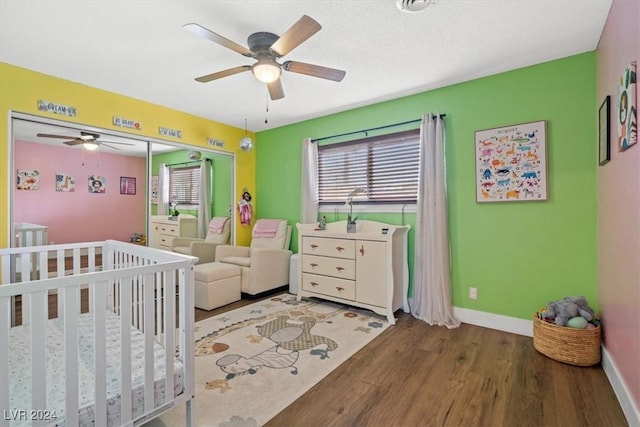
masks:
MULTIPOLYGON (((460 307, 453 307, 453 314, 462 323, 533 337, 533 320, 518 319, 460 307)), ((618 403, 620 403, 629 426, 640 427, 640 412, 631 399, 631 394, 620 377, 618 369, 604 347, 602 347, 602 369, 618 398, 618 403)))

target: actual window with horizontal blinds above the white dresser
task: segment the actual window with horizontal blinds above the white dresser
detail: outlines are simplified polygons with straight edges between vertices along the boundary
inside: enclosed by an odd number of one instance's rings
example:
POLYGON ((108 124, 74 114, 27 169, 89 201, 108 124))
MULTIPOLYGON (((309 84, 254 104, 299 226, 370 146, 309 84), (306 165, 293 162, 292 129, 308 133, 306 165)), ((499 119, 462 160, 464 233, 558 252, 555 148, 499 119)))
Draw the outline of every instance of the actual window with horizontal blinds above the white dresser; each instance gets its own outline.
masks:
POLYGON ((419 167, 419 129, 320 146, 319 201, 344 203, 353 189, 365 188, 355 202, 415 202, 419 167))

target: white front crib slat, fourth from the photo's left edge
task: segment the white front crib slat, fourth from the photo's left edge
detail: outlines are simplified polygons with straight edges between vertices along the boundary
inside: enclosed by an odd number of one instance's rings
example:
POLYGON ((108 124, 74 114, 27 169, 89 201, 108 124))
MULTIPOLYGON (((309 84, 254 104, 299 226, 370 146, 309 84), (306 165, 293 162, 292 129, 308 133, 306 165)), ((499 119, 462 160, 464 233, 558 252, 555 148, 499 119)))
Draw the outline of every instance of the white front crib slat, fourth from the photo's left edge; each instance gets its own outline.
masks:
POLYGON ((94 425, 107 425, 107 341, 106 341, 106 311, 102 304, 107 298, 107 283, 98 282, 91 293, 91 311, 93 316, 94 346, 93 370, 95 372, 95 408, 96 419, 94 425))

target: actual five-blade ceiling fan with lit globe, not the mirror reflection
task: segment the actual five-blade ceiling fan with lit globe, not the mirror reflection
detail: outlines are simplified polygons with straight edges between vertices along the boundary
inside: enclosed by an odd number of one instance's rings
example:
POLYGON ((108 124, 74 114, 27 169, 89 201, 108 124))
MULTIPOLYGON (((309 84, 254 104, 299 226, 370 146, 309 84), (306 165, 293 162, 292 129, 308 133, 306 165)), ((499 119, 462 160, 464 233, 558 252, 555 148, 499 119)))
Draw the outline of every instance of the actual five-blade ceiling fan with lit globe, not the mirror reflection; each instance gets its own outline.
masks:
POLYGON ((197 77, 196 81, 201 83, 210 82, 212 80, 251 70, 258 80, 267 84, 269 96, 275 101, 277 99, 284 98, 284 91, 282 90, 282 83, 280 82, 280 74, 282 74, 282 70, 290 71, 292 73, 306 74, 308 76, 319 77, 321 79, 333 80, 336 82, 342 81, 346 74, 342 70, 307 64, 304 62, 278 62, 278 59, 291 52, 322 28, 318 22, 307 15, 302 16, 302 18, 293 24, 293 26, 291 26, 291 28, 289 28, 280 37, 267 32, 251 34, 247 39, 247 44, 249 45, 248 49, 198 24, 185 24, 184 28, 197 36, 210 40, 214 43, 218 43, 243 56, 257 60, 253 65, 240 65, 238 67, 197 77))

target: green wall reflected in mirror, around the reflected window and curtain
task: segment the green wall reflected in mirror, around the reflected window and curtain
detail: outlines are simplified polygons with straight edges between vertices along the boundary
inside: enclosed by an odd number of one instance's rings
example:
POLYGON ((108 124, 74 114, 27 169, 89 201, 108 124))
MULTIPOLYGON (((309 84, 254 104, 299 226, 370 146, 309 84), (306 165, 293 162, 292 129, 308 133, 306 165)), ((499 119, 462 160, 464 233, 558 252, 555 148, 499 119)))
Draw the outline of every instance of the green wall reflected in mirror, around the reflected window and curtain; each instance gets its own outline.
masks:
MULTIPOLYGON (((166 153, 154 154, 151 160, 151 175, 158 175, 158 168, 161 163, 181 163, 188 162, 189 150, 175 150, 166 153)), ((211 217, 228 216, 229 207, 232 205, 231 198, 233 196, 233 158, 231 156, 216 154, 211 152, 202 152, 202 158, 211 159, 211 168, 213 170, 212 183, 212 203, 211 217)), ((155 215, 158 205, 151 205, 151 214, 155 215)), ((181 211, 181 213, 192 214, 197 216, 195 211, 181 211)))

